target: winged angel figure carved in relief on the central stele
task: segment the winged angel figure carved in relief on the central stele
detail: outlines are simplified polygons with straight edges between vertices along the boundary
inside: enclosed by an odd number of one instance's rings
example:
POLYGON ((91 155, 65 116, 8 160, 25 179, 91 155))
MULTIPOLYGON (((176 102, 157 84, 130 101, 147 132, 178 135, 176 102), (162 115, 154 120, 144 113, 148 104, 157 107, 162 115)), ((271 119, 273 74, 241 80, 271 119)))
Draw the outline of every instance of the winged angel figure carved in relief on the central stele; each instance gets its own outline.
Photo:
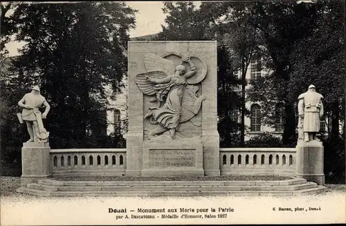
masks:
MULTIPOLYGON (((145 115, 152 124, 158 124, 155 129, 149 131, 148 139, 154 135, 170 131, 172 139, 175 138, 177 128, 181 122, 187 122, 197 115, 201 108, 201 102, 206 99, 204 95, 197 97, 199 86, 193 86, 201 82, 206 76, 206 68, 199 74, 199 79, 189 78, 196 75, 197 67, 194 66, 190 57, 183 58, 178 66, 173 62, 153 54, 145 55, 145 68, 147 72, 136 75, 136 84, 147 95, 156 95, 160 106, 151 107, 145 115), (190 66, 187 72, 183 62, 190 66)), ((151 102, 156 101, 151 100, 151 102)), ((197 126, 200 126, 195 124, 197 126)))

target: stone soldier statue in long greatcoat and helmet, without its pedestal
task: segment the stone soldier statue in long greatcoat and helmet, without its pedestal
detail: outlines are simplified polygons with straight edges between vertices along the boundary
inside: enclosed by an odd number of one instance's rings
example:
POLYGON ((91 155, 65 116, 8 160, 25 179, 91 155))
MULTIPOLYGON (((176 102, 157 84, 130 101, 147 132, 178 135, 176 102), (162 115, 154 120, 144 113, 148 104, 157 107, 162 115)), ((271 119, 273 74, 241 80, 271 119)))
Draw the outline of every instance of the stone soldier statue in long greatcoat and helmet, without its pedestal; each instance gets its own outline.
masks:
POLYGON ((316 87, 309 86, 306 93, 302 93, 298 97, 298 135, 299 140, 309 142, 318 140, 316 137, 320 131, 320 118, 323 116, 323 96, 316 92, 316 87))

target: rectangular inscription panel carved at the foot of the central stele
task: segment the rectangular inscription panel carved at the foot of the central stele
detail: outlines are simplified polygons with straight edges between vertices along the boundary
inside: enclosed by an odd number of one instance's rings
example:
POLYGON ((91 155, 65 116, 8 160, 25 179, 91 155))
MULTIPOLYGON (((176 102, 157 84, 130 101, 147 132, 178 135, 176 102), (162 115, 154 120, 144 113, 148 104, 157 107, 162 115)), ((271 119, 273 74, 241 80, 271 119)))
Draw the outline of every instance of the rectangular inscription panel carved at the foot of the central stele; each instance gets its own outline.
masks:
POLYGON ((196 167, 196 150, 149 150, 149 167, 196 167))

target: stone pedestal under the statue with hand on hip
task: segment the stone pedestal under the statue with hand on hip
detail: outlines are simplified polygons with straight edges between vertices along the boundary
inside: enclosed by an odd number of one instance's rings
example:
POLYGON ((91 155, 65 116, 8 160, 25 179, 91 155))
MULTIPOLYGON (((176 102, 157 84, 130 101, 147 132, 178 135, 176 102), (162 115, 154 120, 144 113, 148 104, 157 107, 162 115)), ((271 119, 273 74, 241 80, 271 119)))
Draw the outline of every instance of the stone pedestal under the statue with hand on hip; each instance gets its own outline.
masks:
POLYGON ((21 187, 51 176, 48 143, 26 142, 21 148, 21 187))

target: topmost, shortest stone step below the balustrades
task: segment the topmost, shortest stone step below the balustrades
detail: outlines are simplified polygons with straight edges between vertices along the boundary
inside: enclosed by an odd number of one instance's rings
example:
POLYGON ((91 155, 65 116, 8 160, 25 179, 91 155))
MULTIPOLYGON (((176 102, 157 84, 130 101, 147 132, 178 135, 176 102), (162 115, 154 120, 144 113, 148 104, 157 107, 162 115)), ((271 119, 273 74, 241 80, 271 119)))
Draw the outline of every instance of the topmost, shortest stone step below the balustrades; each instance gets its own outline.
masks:
POLYGON ((220 180, 220 181, 62 181, 62 180, 39 180, 40 185, 51 186, 95 186, 95 187, 116 187, 116 186, 277 186, 277 185, 301 185, 306 183, 304 178, 294 178, 291 180, 220 180))

